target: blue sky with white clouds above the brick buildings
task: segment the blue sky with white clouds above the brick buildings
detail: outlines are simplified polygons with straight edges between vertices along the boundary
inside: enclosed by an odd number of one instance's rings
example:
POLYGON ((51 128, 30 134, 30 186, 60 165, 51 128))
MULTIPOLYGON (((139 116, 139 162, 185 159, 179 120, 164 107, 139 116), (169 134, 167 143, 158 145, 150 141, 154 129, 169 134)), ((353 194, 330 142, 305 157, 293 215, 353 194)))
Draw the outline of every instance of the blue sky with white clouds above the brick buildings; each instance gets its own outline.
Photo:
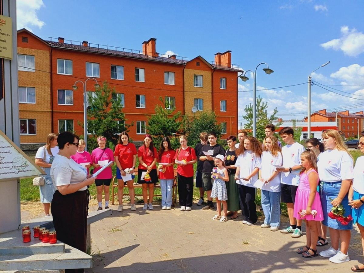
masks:
MULTIPOLYGON (((157 38, 157 52, 214 60, 232 51, 232 63, 255 70, 257 91, 283 119, 307 116, 308 75, 312 111, 364 110, 364 1, 96 1, 17 0, 18 29, 43 39, 99 43, 142 50, 157 38), (295 84, 305 83, 297 86, 295 84), (361 84, 361 85, 352 85, 361 84), (290 87, 286 87, 290 86, 290 87), (277 88, 282 87, 282 88, 277 88), (277 88, 277 89, 270 89, 277 88), (335 88, 336 90, 332 89, 335 88), (339 93, 335 94, 333 92, 339 93), (346 93, 345 93, 346 92, 346 93), (347 96, 347 97, 345 97, 347 96)), ((239 80, 239 123, 252 102, 253 77, 239 80)))

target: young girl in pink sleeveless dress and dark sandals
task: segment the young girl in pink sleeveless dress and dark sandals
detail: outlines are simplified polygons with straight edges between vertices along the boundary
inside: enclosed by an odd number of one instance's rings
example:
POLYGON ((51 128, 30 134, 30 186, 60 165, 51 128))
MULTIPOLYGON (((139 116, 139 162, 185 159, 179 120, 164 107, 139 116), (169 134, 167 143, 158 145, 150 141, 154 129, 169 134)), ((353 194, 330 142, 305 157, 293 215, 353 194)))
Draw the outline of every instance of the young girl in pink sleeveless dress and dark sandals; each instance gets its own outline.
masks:
POLYGON ((301 154, 302 170, 300 172, 300 184, 296 192, 294 202, 294 217, 305 219, 306 222, 306 246, 297 250, 304 258, 318 256, 316 243, 318 240, 317 222, 324 219, 321 207, 320 195, 317 192, 318 173, 316 155, 313 151, 304 151, 301 154))

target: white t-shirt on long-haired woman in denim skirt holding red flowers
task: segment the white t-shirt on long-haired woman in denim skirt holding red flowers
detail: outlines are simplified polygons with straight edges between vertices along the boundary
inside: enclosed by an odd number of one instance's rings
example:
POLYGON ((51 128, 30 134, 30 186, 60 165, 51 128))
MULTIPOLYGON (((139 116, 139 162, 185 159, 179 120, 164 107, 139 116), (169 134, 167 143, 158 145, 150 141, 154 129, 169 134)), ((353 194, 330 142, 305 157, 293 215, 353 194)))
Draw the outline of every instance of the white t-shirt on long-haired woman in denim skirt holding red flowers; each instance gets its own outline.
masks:
POLYGON ((353 159, 346 151, 326 150, 317 162, 320 181, 336 182, 353 179, 353 159))

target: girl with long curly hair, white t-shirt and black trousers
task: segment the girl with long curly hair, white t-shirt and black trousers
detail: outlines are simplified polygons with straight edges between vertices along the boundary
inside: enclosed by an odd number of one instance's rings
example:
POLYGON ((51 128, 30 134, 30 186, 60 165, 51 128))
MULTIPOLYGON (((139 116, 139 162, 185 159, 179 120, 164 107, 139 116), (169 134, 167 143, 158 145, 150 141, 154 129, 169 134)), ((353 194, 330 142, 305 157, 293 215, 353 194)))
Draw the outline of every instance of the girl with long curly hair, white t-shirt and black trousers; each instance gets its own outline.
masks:
POLYGON ((242 223, 249 226, 255 225, 258 221, 253 184, 258 180, 261 154, 262 144, 252 136, 246 137, 236 152, 238 158, 235 162, 235 179, 238 183, 242 223))

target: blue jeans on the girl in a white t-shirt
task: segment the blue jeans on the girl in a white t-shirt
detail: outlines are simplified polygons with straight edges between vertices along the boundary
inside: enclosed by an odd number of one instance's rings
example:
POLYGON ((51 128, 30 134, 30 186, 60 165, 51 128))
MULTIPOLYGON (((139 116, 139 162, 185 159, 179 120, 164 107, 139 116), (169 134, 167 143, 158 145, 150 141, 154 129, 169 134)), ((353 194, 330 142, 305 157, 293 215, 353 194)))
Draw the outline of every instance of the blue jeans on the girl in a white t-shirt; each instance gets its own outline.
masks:
POLYGON ((281 224, 281 192, 262 190, 262 209, 264 212, 264 223, 270 226, 281 224))

